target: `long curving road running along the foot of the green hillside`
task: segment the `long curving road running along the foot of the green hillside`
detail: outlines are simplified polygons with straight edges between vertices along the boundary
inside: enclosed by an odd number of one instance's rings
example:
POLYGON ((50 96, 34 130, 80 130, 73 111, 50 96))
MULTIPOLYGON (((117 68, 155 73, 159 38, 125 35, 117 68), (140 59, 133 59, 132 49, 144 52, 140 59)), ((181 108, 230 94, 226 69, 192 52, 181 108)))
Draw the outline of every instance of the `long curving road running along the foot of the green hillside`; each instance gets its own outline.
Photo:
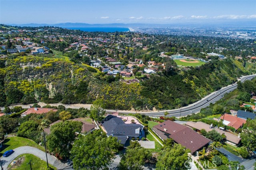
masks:
MULTIPOLYGON (((238 78, 238 80, 240 80, 241 82, 244 82, 245 80, 251 80, 252 78, 256 77, 256 74, 253 75, 249 75, 249 76, 242 76, 241 78, 238 78)), ((210 103, 215 103, 216 101, 220 100, 224 94, 229 93, 233 90, 235 90, 237 88, 237 83, 231 84, 229 86, 226 86, 216 92, 213 92, 211 94, 209 94, 208 96, 205 96, 204 98, 202 98, 201 100, 199 100, 198 102, 194 103, 194 104, 190 104, 189 106, 185 106, 182 107, 180 109, 173 109, 173 110, 162 110, 162 111, 143 111, 140 112, 142 114, 145 115, 149 115, 149 116, 162 116, 164 115, 164 112, 168 112, 169 115, 167 115, 168 117, 179 117, 179 116, 185 116, 185 115, 189 115, 191 113, 197 113, 199 112, 202 108, 205 108, 207 106, 210 105, 210 103)), ((43 103, 40 103, 40 105, 42 105, 43 103)), ((46 105, 46 104, 43 104, 46 105)), ((42 105, 42 106, 43 106, 42 105)), ((64 104, 51 104, 53 106, 58 106, 58 105, 64 105, 64 104)), ((16 105, 16 106, 21 106, 21 105, 16 105)), ((90 108, 91 105, 88 104, 72 104, 72 105, 64 105, 66 108, 73 108, 73 109, 79 109, 80 107, 84 107, 84 108, 90 108)), ((29 105, 22 105, 23 108, 28 108, 29 105)), ((4 109, 3 107, 1 109, 4 109)), ((116 110, 112 110, 112 109, 106 109, 107 112, 114 112, 116 110)), ((118 110, 119 113, 136 113, 135 111, 130 111, 130 110, 118 110)))

